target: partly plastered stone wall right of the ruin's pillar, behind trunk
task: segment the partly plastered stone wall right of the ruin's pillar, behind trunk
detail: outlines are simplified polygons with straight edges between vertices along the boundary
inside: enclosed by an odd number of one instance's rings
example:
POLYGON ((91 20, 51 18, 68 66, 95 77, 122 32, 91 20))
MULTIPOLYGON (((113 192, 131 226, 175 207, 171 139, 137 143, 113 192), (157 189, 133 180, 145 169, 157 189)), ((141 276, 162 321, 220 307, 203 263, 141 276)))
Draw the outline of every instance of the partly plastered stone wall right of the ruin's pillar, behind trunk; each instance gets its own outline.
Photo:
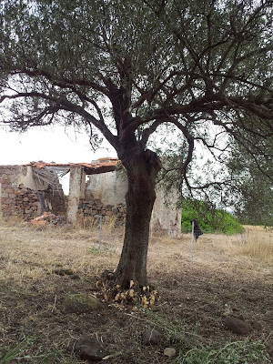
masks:
MULTIPOLYGON (((116 172, 107 172, 89 176, 86 182, 85 198, 80 199, 78 214, 81 217, 114 218, 116 226, 126 221, 127 181, 116 172)), ((161 188, 157 188, 150 227, 152 235, 167 235, 179 238, 181 235, 181 211, 176 207, 177 193, 168 191, 167 197, 161 188), (167 204, 166 204, 167 199, 167 204)))

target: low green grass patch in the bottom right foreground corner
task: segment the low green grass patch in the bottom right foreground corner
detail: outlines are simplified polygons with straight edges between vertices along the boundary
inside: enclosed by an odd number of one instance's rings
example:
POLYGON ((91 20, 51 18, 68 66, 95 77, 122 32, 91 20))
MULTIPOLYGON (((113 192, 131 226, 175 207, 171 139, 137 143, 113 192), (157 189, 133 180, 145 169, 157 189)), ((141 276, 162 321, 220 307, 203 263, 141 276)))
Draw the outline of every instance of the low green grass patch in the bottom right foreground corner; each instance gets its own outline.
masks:
POLYGON ((270 361, 264 354, 265 346, 261 341, 235 341, 223 348, 193 348, 179 353, 175 364, 266 364, 270 361))

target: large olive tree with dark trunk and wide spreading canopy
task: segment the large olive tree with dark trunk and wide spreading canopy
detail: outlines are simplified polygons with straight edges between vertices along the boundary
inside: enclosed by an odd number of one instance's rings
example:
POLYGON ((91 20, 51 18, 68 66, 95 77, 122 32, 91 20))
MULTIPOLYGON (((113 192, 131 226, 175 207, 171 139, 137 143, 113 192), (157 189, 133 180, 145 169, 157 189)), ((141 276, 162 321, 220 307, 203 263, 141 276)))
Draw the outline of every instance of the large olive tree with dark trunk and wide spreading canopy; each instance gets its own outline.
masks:
POLYGON ((104 136, 126 168, 126 233, 115 272, 122 287, 130 279, 147 284, 149 222, 161 168, 147 147, 151 136, 164 127, 167 134, 180 132, 187 146, 178 166, 182 187, 194 190, 187 171, 197 143, 219 157, 227 150, 224 135, 242 147, 257 134, 272 135, 271 5, 2 3, 3 123, 15 130, 54 123, 86 127, 93 146, 104 136))

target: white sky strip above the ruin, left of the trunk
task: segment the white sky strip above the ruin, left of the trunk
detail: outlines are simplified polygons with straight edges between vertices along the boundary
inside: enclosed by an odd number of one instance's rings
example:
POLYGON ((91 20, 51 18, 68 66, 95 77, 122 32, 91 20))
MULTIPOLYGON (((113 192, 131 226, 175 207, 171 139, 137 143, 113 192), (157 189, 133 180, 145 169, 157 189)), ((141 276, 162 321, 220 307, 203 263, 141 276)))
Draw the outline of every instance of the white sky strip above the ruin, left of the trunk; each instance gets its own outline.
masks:
POLYGON ((33 128, 24 134, 0 128, 0 165, 22 165, 31 161, 90 162, 99 157, 116 157, 108 144, 94 153, 88 136, 62 126, 33 128))

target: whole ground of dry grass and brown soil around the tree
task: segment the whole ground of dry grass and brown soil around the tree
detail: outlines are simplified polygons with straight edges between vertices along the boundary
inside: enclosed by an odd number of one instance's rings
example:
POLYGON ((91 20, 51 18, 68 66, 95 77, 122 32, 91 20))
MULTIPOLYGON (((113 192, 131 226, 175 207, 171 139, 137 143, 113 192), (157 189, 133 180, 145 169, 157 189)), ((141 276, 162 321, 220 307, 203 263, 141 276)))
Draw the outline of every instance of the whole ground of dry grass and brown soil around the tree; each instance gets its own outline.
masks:
POLYGON ((86 334, 100 340, 107 353, 116 353, 116 358, 105 360, 113 364, 182 363, 165 356, 164 349, 186 355, 192 348, 222 348, 245 339, 260 340, 272 359, 272 230, 247 227, 238 236, 203 235, 195 244, 193 261, 189 235, 153 237, 148 278, 161 296, 154 308, 139 305, 133 312, 105 302, 99 312, 66 313, 63 301, 69 292, 103 299, 96 281, 103 270, 116 268, 122 236, 122 230, 104 227, 99 248, 97 230, 0 224, 2 363, 87 363, 73 352, 76 340, 86 334), (252 244, 261 249, 257 256, 246 249, 253 237, 252 244), (264 241, 267 254, 262 254, 264 241), (73 275, 56 274, 60 268, 71 269, 73 275), (254 327, 248 337, 225 328, 229 316, 254 327), (141 334, 147 328, 162 333, 156 346, 143 346, 141 334))

